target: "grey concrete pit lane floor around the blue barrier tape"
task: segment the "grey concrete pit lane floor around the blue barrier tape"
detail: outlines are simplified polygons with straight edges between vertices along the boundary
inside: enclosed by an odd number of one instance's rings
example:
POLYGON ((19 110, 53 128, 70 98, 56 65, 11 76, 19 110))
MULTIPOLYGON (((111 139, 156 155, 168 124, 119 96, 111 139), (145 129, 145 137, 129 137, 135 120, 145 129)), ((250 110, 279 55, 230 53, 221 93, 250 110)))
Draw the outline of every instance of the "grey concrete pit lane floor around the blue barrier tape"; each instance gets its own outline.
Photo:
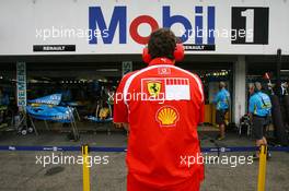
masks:
MULTIPOLYGON (((201 146, 215 146, 216 132, 200 132, 201 146)), ((41 132, 38 136, 28 134, 21 136, 15 133, 0 135, 0 145, 42 145, 42 146, 67 146, 89 143, 92 146, 126 146, 125 133, 81 134, 79 142, 70 142, 66 134, 41 132)), ((220 146, 252 146, 253 140, 239 138, 230 133, 227 139, 217 142, 220 146)), ((0 152, 0 191, 81 191, 82 166, 80 164, 45 164, 44 157, 81 156, 78 152, 0 152), (42 163, 38 160, 42 156, 42 163)), ((204 156, 216 154, 204 154, 204 156)), ((252 153, 223 153, 220 158, 230 156, 247 157, 252 153)), ((91 167, 91 190, 99 191, 125 191, 126 190, 126 165, 125 153, 91 153, 96 163, 91 167), (105 158, 106 157, 106 158, 105 158), (108 164, 104 164, 107 163, 108 164), (102 164, 101 164, 102 163, 102 164)), ((231 159, 232 160, 232 159, 231 159)), ((57 160, 55 160, 57 162, 57 160)), ((258 162, 248 165, 206 165, 206 179, 201 184, 201 191, 254 191, 257 190, 258 162), (232 167, 235 166, 235 167, 232 167)), ((72 162, 71 162, 72 163, 72 162)), ((273 153, 267 163, 266 190, 289 190, 289 153, 273 153)))

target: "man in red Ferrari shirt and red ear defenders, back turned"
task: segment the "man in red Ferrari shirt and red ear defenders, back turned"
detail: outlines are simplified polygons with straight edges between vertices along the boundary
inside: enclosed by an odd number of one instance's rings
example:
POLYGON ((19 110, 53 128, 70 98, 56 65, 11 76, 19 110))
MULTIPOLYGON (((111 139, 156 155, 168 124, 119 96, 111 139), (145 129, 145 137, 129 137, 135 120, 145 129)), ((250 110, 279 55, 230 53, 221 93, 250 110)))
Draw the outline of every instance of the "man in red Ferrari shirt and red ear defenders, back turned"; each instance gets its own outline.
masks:
POLYGON ((183 56, 175 35, 158 29, 143 50, 149 65, 125 75, 117 88, 114 122, 129 127, 128 191, 199 190, 204 93, 196 74, 174 65, 183 56))

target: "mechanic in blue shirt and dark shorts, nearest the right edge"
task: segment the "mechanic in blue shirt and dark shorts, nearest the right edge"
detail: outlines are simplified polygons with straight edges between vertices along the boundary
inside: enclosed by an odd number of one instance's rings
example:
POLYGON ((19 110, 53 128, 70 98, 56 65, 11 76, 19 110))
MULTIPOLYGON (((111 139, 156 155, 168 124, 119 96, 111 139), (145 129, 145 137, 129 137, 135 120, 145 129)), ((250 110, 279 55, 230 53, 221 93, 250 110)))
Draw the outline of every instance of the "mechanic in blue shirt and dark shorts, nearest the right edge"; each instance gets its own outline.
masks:
MULTIPOLYGON (((269 124, 271 114, 271 102, 267 94, 262 92, 259 82, 250 85, 248 112, 253 123, 252 134, 256 139, 256 146, 267 145, 265 138, 266 127, 269 124)), ((259 152, 256 152, 254 158, 257 159, 259 152)))

